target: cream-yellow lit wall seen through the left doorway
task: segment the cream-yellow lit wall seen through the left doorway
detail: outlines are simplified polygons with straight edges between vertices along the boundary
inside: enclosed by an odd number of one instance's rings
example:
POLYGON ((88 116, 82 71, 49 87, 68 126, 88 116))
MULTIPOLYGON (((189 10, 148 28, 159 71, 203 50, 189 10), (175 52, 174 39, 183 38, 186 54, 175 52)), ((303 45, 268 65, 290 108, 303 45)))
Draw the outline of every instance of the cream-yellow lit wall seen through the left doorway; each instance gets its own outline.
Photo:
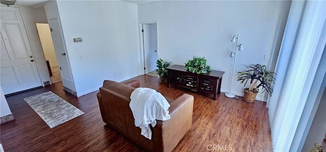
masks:
POLYGON ((50 66, 58 66, 56 51, 55 47, 53 46, 49 24, 37 23, 36 26, 39 32, 45 59, 49 60, 50 66))

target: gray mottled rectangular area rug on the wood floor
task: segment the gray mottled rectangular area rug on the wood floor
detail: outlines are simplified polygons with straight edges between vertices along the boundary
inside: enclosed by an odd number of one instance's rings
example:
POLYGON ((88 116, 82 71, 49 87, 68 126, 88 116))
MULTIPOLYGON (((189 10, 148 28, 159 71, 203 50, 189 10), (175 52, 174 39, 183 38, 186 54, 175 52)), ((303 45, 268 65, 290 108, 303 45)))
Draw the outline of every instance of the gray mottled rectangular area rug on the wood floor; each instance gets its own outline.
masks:
POLYGON ((54 128, 84 114, 75 106, 63 100, 52 92, 24 98, 34 111, 50 127, 54 128))

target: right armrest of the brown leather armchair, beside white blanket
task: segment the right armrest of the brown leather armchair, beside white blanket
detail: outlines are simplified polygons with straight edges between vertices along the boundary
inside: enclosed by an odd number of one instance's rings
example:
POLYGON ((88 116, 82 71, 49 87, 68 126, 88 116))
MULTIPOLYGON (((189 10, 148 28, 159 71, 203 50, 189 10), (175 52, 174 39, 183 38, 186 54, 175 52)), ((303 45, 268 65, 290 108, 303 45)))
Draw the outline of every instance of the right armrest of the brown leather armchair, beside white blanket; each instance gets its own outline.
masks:
POLYGON ((172 151, 185 133, 191 129, 193 120, 194 97, 183 94, 170 104, 171 118, 166 121, 157 120, 153 128, 154 135, 161 135, 161 139, 153 137, 155 151, 172 151), (158 144, 158 145, 155 145, 158 144))

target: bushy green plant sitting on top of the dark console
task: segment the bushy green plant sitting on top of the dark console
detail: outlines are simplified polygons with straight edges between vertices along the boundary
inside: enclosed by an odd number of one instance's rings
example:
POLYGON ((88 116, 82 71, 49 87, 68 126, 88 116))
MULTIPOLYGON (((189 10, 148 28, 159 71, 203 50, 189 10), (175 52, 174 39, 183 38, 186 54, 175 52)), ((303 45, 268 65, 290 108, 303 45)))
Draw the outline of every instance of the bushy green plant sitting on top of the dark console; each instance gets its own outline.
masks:
POLYGON ((197 74, 210 72, 210 66, 206 65, 207 59, 205 57, 194 56, 192 60, 185 63, 185 70, 197 74))

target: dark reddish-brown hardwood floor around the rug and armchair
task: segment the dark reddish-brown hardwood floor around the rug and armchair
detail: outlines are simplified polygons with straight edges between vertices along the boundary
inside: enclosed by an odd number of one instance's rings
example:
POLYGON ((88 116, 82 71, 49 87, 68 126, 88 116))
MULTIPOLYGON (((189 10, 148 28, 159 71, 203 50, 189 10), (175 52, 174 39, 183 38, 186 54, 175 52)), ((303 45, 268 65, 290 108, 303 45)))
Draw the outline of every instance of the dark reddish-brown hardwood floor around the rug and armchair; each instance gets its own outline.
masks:
MULTIPOLYGON (((226 98, 223 93, 214 101, 208 95, 169 88, 156 77, 133 79, 140 80, 141 87, 156 89, 171 99, 184 93, 195 97, 192 129, 174 151, 272 151, 265 102, 247 103, 241 98, 226 98)), ((16 120, 1 125, 1 143, 5 151, 144 151, 103 123, 97 92, 76 98, 65 93, 60 82, 7 97, 16 120), (50 129, 23 100, 49 90, 85 114, 50 129)))

